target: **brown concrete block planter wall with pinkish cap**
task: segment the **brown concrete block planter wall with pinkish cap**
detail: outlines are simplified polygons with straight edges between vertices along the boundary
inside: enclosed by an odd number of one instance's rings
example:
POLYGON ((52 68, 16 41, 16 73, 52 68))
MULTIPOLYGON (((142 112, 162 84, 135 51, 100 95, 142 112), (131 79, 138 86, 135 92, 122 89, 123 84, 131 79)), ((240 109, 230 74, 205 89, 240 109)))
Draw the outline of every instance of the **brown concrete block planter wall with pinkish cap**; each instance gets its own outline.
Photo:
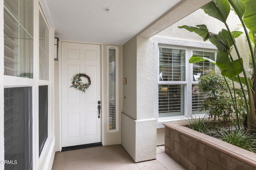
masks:
POLYGON ((256 154, 182 126, 164 123, 165 152, 187 170, 256 170, 256 154))

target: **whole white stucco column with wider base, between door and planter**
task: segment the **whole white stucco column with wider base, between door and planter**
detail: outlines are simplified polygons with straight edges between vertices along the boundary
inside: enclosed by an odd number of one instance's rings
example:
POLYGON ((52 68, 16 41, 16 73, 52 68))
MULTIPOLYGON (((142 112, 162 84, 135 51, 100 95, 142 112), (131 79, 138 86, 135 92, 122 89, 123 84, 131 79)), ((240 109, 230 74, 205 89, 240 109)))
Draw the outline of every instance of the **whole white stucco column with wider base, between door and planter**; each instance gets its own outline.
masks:
POLYGON ((121 142, 135 162, 156 159, 154 118, 154 42, 132 38, 124 45, 121 142))

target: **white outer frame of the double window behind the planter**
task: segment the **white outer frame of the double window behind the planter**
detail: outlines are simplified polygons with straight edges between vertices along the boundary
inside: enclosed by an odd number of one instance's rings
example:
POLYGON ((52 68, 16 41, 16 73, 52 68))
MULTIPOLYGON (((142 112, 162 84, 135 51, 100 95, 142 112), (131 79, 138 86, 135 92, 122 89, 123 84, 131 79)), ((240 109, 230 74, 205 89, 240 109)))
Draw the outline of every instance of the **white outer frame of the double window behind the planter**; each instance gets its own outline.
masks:
MULTIPOLYGON (((192 51, 205 51, 205 52, 214 52, 215 58, 217 55, 217 48, 209 42, 194 42, 190 40, 178 40, 172 38, 164 38, 154 36, 154 100, 158 101, 158 81, 159 81, 159 46, 164 47, 171 47, 171 48, 178 48, 178 49, 187 49, 186 50, 186 82, 187 82, 187 89, 185 93, 185 99, 187 101, 186 108, 185 108, 185 115, 184 116, 173 116, 173 117, 158 117, 158 102, 154 103, 154 115, 157 119, 157 128, 163 128, 163 122, 168 121, 179 121, 187 119, 187 117, 192 116, 192 81, 191 77, 193 76, 193 64, 188 63, 188 60, 192 56, 192 51), (186 46, 184 46, 186 45, 186 46), (187 116, 187 117, 186 117, 187 116)), ((215 70, 218 69, 215 67, 215 70)), ((194 84, 194 82, 193 82, 194 84)), ((196 114, 196 116, 203 116, 204 114, 196 114)))

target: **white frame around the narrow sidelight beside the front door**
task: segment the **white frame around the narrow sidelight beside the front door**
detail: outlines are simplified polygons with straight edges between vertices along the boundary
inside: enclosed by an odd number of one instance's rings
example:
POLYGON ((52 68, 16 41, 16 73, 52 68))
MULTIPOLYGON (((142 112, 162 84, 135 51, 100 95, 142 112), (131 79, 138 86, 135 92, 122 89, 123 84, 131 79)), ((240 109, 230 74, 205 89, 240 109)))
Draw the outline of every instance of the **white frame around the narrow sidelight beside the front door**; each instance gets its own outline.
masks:
POLYGON ((118 47, 117 46, 107 46, 107 132, 114 133, 119 132, 119 65, 118 65, 118 47), (116 50, 116 129, 109 129, 109 49, 116 50))

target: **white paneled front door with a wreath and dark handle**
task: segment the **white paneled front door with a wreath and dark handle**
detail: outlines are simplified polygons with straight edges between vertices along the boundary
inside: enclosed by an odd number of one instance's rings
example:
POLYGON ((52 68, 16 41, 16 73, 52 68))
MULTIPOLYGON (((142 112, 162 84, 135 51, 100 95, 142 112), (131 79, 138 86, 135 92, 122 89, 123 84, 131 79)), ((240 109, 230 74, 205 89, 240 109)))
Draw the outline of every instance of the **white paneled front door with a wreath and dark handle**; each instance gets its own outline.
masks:
MULTIPOLYGON (((62 147, 101 142, 100 58, 101 45, 61 43, 62 147), (78 73, 91 79, 85 93, 70 87, 78 73)), ((85 77, 81 79, 84 84, 88 82, 85 77)))

